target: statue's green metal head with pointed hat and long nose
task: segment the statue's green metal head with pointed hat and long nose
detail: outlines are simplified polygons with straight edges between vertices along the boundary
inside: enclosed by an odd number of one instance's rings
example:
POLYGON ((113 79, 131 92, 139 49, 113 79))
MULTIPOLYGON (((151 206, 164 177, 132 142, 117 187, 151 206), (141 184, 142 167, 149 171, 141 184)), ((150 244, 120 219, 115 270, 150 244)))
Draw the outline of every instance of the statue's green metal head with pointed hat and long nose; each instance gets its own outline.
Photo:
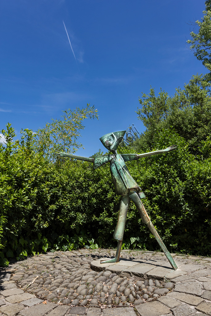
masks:
POLYGON ((112 153, 115 153, 119 144, 121 143, 126 131, 118 131, 109 134, 105 134, 100 137, 100 141, 105 146, 106 149, 110 150, 112 153))

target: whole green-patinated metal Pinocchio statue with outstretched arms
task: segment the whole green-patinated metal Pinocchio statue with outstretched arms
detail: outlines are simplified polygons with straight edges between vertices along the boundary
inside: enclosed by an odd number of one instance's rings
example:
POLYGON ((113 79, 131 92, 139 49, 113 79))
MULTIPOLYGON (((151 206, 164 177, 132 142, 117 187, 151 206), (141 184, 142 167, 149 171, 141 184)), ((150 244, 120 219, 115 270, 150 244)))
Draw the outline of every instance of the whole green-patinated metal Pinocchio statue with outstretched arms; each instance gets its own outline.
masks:
POLYGON ((141 202, 141 198, 145 198, 144 192, 142 192, 140 186, 136 183, 133 177, 130 175, 129 170, 125 164, 126 161, 137 160, 142 157, 163 154, 165 152, 176 149, 175 145, 170 146, 166 149, 156 150, 144 154, 118 154, 117 148, 121 143, 126 131, 117 131, 113 133, 106 134, 100 138, 103 146, 108 149, 112 154, 110 155, 98 155, 94 158, 81 157, 77 155, 70 155, 62 152, 55 152, 54 154, 59 157, 70 157, 74 159, 80 159, 84 161, 89 161, 93 163, 93 169, 99 168, 106 163, 110 163, 110 172, 112 181, 116 190, 117 195, 121 195, 120 210, 118 222, 114 231, 114 239, 118 240, 118 246, 115 258, 108 260, 102 260, 101 263, 113 263, 118 262, 120 258, 121 245, 124 235, 125 223, 127 218, 127 211, 129 208, 130 200, 132 200, 141 216, 142 222, 145 223, 155 239, 158 241, 159 246, 163 250, 165 256, 168 258, 172 268, 177 269, 170 252, 167 250, 163 241, 161 240, 158 232, 154 228, 146 210, 141 202))

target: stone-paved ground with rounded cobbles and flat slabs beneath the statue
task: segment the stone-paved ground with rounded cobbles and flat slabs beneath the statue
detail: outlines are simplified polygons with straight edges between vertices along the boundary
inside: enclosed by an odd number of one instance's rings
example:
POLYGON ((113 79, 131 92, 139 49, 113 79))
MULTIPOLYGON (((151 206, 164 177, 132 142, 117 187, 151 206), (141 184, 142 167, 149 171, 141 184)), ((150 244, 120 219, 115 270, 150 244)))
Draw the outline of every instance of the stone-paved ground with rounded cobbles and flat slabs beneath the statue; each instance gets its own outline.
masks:
POLYGON ((0 272, 0 315, 211 316, 211 258, 108 249, 48 252, 0 272))

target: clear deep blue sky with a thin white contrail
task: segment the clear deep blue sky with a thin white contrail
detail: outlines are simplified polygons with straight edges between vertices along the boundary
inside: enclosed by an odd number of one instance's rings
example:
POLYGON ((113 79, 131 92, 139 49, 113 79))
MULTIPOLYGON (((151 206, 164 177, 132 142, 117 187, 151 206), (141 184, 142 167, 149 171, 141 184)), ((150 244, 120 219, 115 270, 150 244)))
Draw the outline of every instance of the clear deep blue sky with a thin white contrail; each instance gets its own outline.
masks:
POLYGON ((90 103, 99 120, 84 121, 78 155, 103 150, 106 133, 143 132, 141 92, 172 95, 207 72, 186 46, 187 23, 204 9, 204 0, 0 0, 0 130, 12 123, 20 137, 90 103))

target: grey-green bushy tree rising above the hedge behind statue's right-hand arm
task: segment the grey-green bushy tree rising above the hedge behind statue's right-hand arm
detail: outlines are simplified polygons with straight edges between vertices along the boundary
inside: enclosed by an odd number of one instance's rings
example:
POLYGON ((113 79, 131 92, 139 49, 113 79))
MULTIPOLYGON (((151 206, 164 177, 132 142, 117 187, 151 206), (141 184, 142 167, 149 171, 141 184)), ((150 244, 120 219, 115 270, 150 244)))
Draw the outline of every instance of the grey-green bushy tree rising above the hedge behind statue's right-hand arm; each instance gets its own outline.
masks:
POLYGON ((141 108, 136 113, 146 126, 140 139, 134 142, 136 150, 146 150, 155 146, 154 136, 164 129, 174 129, 189 144, 194 155, 204 156, 201 142, 211 137, 211 94, 210 83, 203 75, 193 76, 183 89, 176 88, 174 96, 160 91, 155 96, 154 89, 139 98, 141 108))

